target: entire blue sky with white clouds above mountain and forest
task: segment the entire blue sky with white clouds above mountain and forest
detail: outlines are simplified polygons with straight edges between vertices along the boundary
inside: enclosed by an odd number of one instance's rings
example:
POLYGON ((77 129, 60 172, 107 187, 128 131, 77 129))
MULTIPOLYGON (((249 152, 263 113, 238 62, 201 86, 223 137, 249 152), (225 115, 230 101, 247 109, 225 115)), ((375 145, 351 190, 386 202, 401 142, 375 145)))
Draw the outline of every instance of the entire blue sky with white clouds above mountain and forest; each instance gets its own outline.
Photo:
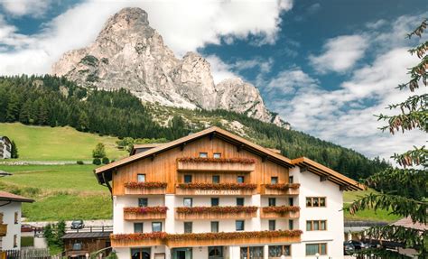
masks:
POLYGON ((0 74, 49 73, 60 55, 93 42, 107 17, 139 6, 177 56, 198 51, 214 79, 254 84, 294 129, 373 157, 426 136, 382 134, 374 114, 408 94, 395 86, 422 40, 405 33, 428 16, 424 0, 0 0, 0 74))

